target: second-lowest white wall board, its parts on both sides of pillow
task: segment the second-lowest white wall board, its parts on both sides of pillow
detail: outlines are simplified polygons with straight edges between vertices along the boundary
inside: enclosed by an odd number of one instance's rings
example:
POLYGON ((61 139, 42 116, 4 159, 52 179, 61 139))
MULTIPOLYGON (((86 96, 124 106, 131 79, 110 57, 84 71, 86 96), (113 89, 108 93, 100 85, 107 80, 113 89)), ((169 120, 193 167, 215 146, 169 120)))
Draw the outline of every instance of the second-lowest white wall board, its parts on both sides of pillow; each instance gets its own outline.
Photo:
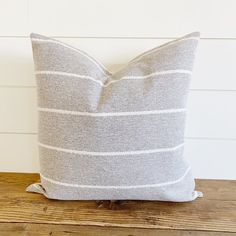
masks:
MULTIPOLYGON (((236 92, 191 91, 187 137, 236 139, 236 92)), ((36 89, 0 88, 0 132, 37 132, 36 89)))

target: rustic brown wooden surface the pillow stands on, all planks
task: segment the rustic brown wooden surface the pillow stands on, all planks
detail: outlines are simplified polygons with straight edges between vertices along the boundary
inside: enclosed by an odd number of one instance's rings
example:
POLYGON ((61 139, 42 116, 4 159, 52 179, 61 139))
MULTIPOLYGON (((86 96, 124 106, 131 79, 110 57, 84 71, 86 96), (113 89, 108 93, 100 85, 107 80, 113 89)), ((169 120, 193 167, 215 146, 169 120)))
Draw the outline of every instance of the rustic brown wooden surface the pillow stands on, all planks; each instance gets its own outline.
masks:
POLYGON ((37 174, 0 173, 2 235, 236 235, 236 181, 197 180, 203 198, 188 203, 49 200, 25 188, 37 174))

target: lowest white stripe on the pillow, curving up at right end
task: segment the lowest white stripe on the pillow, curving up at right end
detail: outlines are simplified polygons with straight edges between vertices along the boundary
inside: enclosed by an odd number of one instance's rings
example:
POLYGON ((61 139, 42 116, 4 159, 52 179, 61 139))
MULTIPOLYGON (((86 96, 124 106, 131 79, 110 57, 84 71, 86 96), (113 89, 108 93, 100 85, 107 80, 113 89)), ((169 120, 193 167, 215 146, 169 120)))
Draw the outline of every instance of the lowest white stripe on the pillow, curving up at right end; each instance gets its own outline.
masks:
POLYGON ((176 180, 173 181, 168 181, 168 182, 163 182, 163 183, 158 183, 158 184, 144 184, 144 185, 131 185, 131 186, 126 186, 126 185, 108 185, 108 186, 104 186, 104 185, 80 185, 80 184, 69 184, 69 183, 63 183, 63 182, 59 182, 53 179, 50 179, 48 177, 45 177, 44 175, 40 174, 40 177, 42 179, 45 179, 48 182, 51 182, 53 184, 57 184, 57 185, 62 185, 62 186, 67 186, 67 187, 73 187, 73 188, 92 188, 92 189, 136 189, 136 188, 156 188, 156 187, 163 187, 163 186, 167 186, 167 185, 172 185, 172 184, 176 184, 180 181, 182 181, 185 176, 189 173, 190 171, 190 167, 187 168, 187 170, 184 172, 184 174, 176 180))

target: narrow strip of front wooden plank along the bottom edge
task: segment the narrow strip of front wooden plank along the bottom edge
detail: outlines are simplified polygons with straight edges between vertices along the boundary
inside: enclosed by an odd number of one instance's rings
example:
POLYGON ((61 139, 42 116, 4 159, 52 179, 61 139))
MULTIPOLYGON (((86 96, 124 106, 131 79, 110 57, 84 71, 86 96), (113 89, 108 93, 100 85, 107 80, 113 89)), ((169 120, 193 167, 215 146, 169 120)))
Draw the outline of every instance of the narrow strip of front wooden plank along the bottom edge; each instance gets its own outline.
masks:
POLYGON ((29 223, 0 223, 1 236, 234 236, 229 232, 206 232, 193 230, 162 230, 100 226, 74 226, 29 223))

